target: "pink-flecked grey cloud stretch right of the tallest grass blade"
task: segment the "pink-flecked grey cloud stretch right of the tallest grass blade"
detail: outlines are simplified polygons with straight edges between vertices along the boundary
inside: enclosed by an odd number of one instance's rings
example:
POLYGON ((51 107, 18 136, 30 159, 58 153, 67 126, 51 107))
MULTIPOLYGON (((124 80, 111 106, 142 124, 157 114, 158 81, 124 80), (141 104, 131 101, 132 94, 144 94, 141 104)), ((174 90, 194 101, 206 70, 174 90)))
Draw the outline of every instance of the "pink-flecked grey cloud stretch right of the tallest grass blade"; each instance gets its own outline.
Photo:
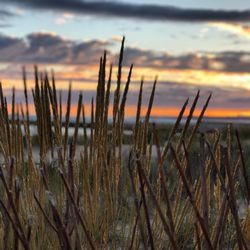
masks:
POLYGON ((223 72, 249 72, 250 52, 189 53, 171 55, 138 48, 125 49, 125 64, 135 62, 141 67, 158 69, 195 69, 223 72))

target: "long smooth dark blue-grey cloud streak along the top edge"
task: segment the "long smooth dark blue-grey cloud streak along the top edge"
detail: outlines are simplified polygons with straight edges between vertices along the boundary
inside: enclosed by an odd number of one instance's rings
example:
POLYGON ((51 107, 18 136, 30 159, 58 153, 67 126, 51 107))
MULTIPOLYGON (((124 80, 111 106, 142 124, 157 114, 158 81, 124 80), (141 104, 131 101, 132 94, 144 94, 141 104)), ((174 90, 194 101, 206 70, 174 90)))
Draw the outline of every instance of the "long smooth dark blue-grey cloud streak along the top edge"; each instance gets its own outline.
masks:
POLYGON ((249 21, 250 10, 185 9, 156 4, 130 4, 117 1, 84 0, 1 0, 2 3, 19 4, 33 9, 67 11, 78 14, 94 14, 161 21, 249 21))

